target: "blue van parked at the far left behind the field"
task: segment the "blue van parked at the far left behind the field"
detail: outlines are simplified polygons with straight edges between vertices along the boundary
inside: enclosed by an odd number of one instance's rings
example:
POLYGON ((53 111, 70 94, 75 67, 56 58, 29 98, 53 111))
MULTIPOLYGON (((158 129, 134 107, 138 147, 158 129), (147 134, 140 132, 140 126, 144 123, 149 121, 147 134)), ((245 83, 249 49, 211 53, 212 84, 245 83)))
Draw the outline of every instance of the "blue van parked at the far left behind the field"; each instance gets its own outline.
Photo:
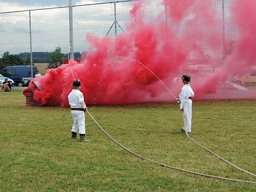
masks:
MULTIPOLYGON (((36 74, 36 66, 32 66, 33 69, 33 78, 36 74)), ((30 65, 17 65, 17 66, 7 66, 2 69, 0 73, 7 78, 10 78, 14 81, 15 85, 22 87, 22 78, 31 77, 31 66, 30 65)))

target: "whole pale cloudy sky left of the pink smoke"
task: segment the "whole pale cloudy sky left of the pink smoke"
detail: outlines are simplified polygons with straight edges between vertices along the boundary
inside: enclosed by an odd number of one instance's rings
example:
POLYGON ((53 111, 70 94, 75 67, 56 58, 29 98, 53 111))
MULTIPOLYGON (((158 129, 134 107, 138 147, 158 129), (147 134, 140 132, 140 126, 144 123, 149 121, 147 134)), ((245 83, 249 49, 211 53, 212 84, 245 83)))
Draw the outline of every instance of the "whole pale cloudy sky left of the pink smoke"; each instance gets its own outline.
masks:
MULTIPOLYGON (((123 0, 122 0, 123 1, 123 0)), ((119 1, 118 24, 126 30, 130 3, 119 1)), ((115 35, 113 4, 115 0, 72 0, 73 5, 73 30, 74 51, 87 50, 90 43, 87 34, 93 33, 99 37, 115 35), (106 3, 106 4, 100 4, 106 3), (108 4, 107 4, 108 3, 108 4), (98 5, 91 5, 98 4, 98 5)), ((63 52, 69 51, 69 0, 0 0, 0 57, 8 51, 11 54, 30 52, 30 18, 31 12, 33 51, 52 51, 61 47, 63 52), (45 9, 62 7, 57 9, 45 9), (40 10, 37 10, 40 9, 40 10), (36 11, 37 10, 37 11, 36 11), (20 11, 20 12, 18 12, 20 11), (45 22, 47 21, 47 22, 45 22), (58 29, 58 33, 55 30, 58 29)), ((117 32, 122 33, 121 27, 117 32)))

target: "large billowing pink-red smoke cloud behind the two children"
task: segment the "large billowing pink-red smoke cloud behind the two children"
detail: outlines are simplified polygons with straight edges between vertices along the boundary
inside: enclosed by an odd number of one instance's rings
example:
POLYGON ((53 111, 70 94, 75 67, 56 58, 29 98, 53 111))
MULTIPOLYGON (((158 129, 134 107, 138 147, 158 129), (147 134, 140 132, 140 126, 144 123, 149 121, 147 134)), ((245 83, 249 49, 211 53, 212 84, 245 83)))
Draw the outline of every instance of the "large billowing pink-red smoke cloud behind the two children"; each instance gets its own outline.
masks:
MULTIPOLYGON (((215 18, 222 15, 222 10, 213 11, 212 0, 163 0, 172 22, 168 26, 160 17, 145 22, 144 2, 139 1, 133 2, 126 34, 117 35, 114 41, 88 34, 87 40, 96 51, 88 52, 81 63, 71 60, 69 65, 47 70, 45 75, 33 79, 39 89, 32 83, 28 89, 35 100, 62 107, 69 107, 67 98, 73 78, 80 79, 86 104, 174 101, 163 84, 178 97, 183 86, 181 75, 192 72, 195 99, 215 93, 229 76, 235 76, 256 60, 256 2, 232 3, 231 18, 239 36, 232 44, 233 50, 221 62, 216 58, 222 58, 223 53, 216 47, 223 45, 222 30, 214 30, 213 26, 222 24, 222 20, 215 18), (182 24, 184 28, 180 27, 182 24), (204 47, 208 49, 205 51, 204 47), (189 69, 189 60, 194 61, 192 65, 213 66, 215 72, 200 76, 202 68, 189 69)), ((228 33, 226 40, 232 40, 228 33)))

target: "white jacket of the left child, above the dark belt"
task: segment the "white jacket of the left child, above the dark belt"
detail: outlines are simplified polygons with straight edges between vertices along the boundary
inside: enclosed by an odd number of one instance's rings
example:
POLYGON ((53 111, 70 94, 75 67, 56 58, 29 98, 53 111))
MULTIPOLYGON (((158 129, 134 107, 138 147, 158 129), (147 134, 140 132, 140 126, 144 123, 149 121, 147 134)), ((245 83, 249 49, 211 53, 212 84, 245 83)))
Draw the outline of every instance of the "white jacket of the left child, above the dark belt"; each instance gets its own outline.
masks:
POLYGON ((72 89, 68 96, 69 104, 71 108, 86 108, 86 103, 84 103, 83 93, 78 89, 72 89))

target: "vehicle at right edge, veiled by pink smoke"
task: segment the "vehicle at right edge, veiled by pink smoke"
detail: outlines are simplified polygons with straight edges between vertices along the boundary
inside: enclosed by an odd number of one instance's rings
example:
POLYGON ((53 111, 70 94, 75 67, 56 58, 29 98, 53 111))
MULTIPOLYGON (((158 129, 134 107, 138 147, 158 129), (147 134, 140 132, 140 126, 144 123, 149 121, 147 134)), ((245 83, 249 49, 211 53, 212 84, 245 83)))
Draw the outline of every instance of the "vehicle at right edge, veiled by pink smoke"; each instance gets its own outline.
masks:
POLYGON ((243 86, 256 86, 256 66, 248 66, 234 77, 235 83, 243 86))

